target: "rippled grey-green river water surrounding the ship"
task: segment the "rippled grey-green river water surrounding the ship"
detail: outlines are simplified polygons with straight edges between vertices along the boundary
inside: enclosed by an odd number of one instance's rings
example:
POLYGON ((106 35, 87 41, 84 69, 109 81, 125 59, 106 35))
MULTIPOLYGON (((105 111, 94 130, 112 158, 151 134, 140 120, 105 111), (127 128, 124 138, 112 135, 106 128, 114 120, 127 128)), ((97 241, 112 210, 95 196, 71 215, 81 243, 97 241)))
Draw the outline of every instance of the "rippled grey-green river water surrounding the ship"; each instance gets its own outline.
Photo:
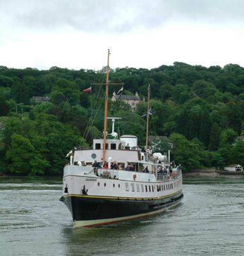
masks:
POLYGON ((161 216, 72 228, 61 178, 0 177, 0 255, 244 255, 242 176, 185 177, 161 216))

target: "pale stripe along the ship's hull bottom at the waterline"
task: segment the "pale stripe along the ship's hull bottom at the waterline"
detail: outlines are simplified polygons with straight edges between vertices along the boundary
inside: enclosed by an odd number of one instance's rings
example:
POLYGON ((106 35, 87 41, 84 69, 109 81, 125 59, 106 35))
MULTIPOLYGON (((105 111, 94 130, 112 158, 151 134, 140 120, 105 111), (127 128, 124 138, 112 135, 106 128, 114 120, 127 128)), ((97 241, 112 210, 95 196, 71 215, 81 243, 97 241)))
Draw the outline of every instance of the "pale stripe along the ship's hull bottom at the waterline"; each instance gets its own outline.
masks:
POLYGON ((73 227, 75 227, 75 228, 76 227, 93 227, 93 226, 98 226, 98 225, 107 225, 107 224, 111 224, 111 223, 115 223, 115 222, 119 222, 119 221, 123 221, 123 220, 133 220, 133 219, 137 219, 137 218, 151 216, 151 215, 154 215, 154 214, 158 214, 160 212, 164 212, 167 209, 171 209, 172 207, 175 207, 179 203, 181 203, 181 201, 178 201, 175 204, 169 205, 168 207, 165 207, 165 208, 160 209, 158 211, 146 212, 146 213, 136 214, 136 215, 132 215, 132 216, 125 216, 125 217, 111 218, 111 219, 103 219, 103 220, 73 221, 73 227))

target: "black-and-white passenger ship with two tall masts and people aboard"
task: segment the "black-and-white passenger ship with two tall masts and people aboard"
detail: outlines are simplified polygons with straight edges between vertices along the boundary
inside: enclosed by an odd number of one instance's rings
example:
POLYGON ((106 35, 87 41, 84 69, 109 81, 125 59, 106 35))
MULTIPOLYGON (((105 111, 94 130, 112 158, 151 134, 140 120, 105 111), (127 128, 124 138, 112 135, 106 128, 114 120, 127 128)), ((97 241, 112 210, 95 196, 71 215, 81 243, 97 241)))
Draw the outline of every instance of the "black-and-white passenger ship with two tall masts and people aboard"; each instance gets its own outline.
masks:
MULTIPOLYGON (((183 199, 181 166, 174 166, 170 154, 148 148, 149 98, 146 146, 137 136, 114 132, 116 119, 107 116, 109 97, 109 55, 107 57, 103 137, 93 140, 91 149, 73 149, 63 170, 63 195, 72 214, 73 227, 109 225, 119 221, 161 214, 183 199), (107 121, 112 132, 107 132, 107 121)), ((149 86, 148 86, 149 87, 149 86)))

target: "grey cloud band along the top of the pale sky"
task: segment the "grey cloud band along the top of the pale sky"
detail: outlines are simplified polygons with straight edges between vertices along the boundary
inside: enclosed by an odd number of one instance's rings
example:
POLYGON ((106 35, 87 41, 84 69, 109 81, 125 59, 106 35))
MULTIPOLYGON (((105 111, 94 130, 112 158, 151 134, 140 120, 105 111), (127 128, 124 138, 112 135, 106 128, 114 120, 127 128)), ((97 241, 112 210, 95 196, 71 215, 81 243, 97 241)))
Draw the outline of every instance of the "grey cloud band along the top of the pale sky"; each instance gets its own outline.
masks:
POLYGON ((90 33, 155 29, 168 21, 244 20, 241 0, 0 0, 1 20, 28 29, 73 28, 90 33))

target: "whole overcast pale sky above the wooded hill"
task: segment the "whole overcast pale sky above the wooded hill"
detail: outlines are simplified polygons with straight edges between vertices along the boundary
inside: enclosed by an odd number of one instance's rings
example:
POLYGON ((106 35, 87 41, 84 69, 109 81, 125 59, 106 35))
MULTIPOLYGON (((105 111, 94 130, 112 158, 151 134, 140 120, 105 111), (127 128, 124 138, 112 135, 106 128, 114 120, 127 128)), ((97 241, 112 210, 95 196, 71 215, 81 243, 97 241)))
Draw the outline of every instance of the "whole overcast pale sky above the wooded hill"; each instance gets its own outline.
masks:
POLYGON ((244 67, 243 0, 0 0, 0 66, 244 67))

